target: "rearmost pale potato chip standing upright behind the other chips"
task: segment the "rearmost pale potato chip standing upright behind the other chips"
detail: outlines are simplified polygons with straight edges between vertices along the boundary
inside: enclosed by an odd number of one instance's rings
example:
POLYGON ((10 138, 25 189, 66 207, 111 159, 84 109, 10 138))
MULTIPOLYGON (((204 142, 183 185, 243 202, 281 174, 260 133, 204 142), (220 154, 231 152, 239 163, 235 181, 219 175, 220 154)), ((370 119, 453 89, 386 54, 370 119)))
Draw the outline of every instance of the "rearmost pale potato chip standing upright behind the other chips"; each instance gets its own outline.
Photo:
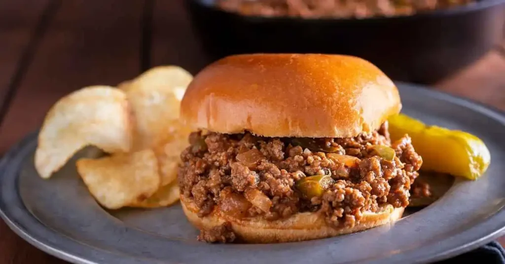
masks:
POLYGON ((192 76, 177 66, 155 67, 120 84, 136 117, 133 150, 150 148, 164 140, 179 118, 180 100, 192 76))

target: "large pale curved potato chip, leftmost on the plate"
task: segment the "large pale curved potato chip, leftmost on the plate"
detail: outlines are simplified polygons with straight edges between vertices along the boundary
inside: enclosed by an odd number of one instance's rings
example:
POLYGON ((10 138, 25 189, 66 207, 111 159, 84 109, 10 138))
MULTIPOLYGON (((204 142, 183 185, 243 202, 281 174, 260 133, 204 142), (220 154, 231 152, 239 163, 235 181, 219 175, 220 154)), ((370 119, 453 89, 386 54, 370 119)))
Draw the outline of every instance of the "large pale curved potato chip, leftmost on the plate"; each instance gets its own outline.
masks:
POLYGON ((47 113, 35 152, 35 168, 49 178, 87 145, 126 152, 132 144, 132 120, 123 91, 89 86, 61 98, 47 113))

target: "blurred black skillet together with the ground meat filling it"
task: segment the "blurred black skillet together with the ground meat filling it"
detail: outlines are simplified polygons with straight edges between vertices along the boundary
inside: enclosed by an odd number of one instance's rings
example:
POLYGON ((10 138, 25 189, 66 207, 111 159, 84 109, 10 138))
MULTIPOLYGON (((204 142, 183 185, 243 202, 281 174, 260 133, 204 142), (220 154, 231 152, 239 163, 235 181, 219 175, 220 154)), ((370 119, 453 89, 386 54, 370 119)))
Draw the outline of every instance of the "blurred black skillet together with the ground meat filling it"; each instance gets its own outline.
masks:
POLYGON ((503 39, 502 0, 193 0, 204 47, 365 58, 396 80, 434 83, 503 39))

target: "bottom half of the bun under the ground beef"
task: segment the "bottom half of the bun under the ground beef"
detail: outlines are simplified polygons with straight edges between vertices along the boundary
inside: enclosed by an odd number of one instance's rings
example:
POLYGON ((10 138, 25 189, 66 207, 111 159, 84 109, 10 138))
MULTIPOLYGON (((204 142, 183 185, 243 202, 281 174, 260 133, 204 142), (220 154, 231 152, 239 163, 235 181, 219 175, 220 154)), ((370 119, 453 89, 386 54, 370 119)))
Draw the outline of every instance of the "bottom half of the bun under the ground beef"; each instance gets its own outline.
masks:
POLYGON ((280 243, 334 237, 392 223, 401 218, 405 208, 385 206, 381 212, 365 212, 363 218, 352 228, 333 228, 326 224, 318 213, 298 213, 287 219, 267 221, 261 217, 237 219, 214 210, 200 218, 191 199, 180 195, 182 209, 189 222, 200 230, 209 230, 229 222, 235 235, 245 243, 280 243))

